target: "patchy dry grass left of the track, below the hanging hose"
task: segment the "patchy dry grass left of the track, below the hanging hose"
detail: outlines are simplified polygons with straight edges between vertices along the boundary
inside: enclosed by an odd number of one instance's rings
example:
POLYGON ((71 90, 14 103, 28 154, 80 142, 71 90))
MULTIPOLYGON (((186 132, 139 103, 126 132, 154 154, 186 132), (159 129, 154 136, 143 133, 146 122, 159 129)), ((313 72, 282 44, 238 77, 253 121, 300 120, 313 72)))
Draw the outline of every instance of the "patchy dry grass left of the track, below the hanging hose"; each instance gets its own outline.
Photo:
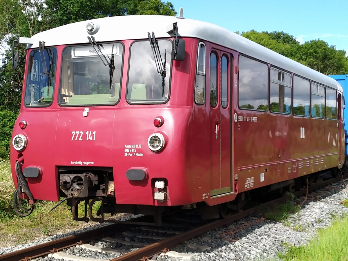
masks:
MULTIPOLYGON (((86 224, 73 221, 65 203, 49 212, 57 204, 50 201, 38 201, 31 215, 18 216, 13 209, 14 191, 9 160, 0 159, 0 247, 22 244, 35 238, 56 234, 62 228, 74 230, 86 224)), ((80 207, 80 215, 82 211, 80 207)))

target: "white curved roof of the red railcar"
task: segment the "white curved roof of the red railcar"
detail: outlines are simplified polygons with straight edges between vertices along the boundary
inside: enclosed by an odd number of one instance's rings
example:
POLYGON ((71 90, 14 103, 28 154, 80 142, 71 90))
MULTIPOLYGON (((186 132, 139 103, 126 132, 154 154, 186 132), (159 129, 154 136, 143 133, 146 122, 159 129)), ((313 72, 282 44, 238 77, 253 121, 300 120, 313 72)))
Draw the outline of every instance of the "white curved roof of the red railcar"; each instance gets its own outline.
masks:
POLYGON ((154 32, 156 38, 173 36, 173 34, 168 34, 167 30, 174 22, 177 22, 181 37, 194 37, 226 46, 342 92, 342 87, 336 80, 234 32, 211 23, 193 19, 178 19, 174 16, 114 16, 72 23, 33 35, 34 44, 30 47, 37 48, 39 41, 45 41, 46 46, 88 43, 87 36, 90 35, 86 31, 86 25, 90 21, 100 26, 98 32, 93 35, 97 42, 147 39, 147 32, 154 32))

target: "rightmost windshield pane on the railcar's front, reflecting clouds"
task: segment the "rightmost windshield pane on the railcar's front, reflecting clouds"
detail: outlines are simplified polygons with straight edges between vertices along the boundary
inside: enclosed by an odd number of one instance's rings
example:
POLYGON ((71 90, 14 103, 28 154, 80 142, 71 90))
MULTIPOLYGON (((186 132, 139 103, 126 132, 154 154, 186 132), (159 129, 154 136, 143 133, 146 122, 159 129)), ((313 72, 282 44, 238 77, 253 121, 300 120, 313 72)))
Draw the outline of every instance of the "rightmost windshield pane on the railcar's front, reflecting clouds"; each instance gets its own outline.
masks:
POLYGON ((149 41, 136 41, 130 49, 127 101, 129 103, 165 103, 169 97, 172 42, 158 41, 160 55, 164 60, 166 53, 166 77, 157 72, 149 41))

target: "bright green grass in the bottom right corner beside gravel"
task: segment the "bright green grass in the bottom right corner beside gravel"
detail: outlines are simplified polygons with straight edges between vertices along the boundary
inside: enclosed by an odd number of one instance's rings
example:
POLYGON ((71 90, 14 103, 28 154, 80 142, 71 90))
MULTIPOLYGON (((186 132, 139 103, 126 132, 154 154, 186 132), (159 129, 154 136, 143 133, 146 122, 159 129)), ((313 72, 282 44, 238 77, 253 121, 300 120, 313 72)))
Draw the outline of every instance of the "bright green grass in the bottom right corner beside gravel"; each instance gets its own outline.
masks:
POLYGON ((278 257, 285 261, 348 261, 348 219, 338 219, 333 226, 318 231, 306 246, 291 246, 278 257))

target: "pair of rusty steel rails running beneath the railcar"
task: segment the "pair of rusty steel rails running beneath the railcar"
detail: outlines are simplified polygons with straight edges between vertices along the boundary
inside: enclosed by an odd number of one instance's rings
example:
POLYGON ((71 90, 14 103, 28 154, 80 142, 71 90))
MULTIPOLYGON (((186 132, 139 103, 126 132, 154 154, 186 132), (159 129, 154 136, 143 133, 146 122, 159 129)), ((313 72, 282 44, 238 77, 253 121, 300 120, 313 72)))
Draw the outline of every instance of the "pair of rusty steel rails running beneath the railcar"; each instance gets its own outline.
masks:
MULTIPOLYGON (((348 174, 344 175, 344 177, 348 177, 348 174)), ((308 187, 308 192, 324 187, 330 183, 337 182, 341 179, 342 179, 342 176, 336 177, 334 179, 330 179, 315 185, 311 185, 310 187, 308 187)), ((305 193, 306 193, 306 188, 304 190, 295 192, 294 195, 298 197, 305 193)), ((291 196, 278 198, 278 199, 269 201, 267 203, 264 203, 262 205, 265 207, 270 207, 274 204, 282 203, 288 199, 291 199, 291 196)), ((179 234, 177 236, 161 240, 158 243, 154 243, 146 247, 140 248, 136 251, 133 251, 125 255, 122 255, 118 258, 112 259, 111 261, 140 260, 144 257, 149 257, 161 252, 166 252, 167 249, 173 248, 174 246, 177 246, 178 244, 186 240, 202 235, 209 230, 220 228, 222 226, 230 224, 231 222, 241 219, 247 215, 250 215, 251 213, 258 211, 259 208, 260 206, 246 209, 245 211, 237 213, 236 215, 230 216, 226 219, 217 220, 212 223, 205 224, 204 226, 184 232, 183 234, 179 234)), ((97 229, 82 232, 80 234, 63 237, 60 239, 52 240, 47 243, 39 244, 32 247, 27 247, 22 250, 0 255, 0 260, 7 260, 7 261, 31 260, 33 258, 38 258, 40 256, 47 255, 49 253, 54 253, 68 247, 82 244, 82 242, 89 242, 90 240, 93 240, 96 237, 100 237, 103 234, 112 234, 113 231, 114 233, 123 232, 125 230, 128 230, 129 228, 134 227, 134 225, 149 224, 150 222, 148 221, 148 218, 149 218, 148 216, 142 216, 129 221, 115 221, 113 224, 109 226, 100 227, 97 229)), ((144 258, 144 260, 146 260, 146 258, 144 258)))

